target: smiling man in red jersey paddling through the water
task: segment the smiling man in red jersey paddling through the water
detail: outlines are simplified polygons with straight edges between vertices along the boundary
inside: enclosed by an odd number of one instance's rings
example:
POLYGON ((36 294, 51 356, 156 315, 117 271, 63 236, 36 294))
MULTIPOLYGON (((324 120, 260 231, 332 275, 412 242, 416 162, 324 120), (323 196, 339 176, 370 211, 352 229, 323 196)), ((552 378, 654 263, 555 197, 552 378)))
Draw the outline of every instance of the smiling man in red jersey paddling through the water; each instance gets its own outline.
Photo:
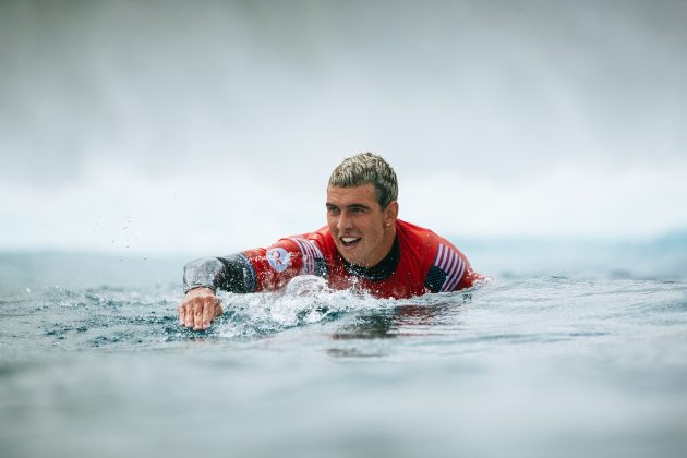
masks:
POLYGON ((397 299, 456 291, 483 278, 448 241, 397 219, 397 196, 396 173, 382 157, 364 153, 345 159, 329 178, 326 227, 267 249, 188 263, 179 324, 206 329, 222 313, 217 289, 272 291, 298 275, 397 299))

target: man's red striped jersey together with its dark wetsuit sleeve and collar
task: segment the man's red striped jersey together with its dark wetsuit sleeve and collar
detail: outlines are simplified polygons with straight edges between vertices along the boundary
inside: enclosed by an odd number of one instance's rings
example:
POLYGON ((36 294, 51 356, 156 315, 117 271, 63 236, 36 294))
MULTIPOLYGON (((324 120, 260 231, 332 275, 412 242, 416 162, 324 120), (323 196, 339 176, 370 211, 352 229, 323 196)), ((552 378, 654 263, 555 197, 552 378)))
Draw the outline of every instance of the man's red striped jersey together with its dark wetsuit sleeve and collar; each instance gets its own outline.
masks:
POLYGON ((273 291, 298 275, 324 277, 333 289, 352 288, 396 299, 456 291, 483 278, 450 242, 429 229, 397 220, 391 251, 371 268, 346 262, 324 227, 284 238, 266 249, 192 261, 184 269, 184 290, 273 291))

